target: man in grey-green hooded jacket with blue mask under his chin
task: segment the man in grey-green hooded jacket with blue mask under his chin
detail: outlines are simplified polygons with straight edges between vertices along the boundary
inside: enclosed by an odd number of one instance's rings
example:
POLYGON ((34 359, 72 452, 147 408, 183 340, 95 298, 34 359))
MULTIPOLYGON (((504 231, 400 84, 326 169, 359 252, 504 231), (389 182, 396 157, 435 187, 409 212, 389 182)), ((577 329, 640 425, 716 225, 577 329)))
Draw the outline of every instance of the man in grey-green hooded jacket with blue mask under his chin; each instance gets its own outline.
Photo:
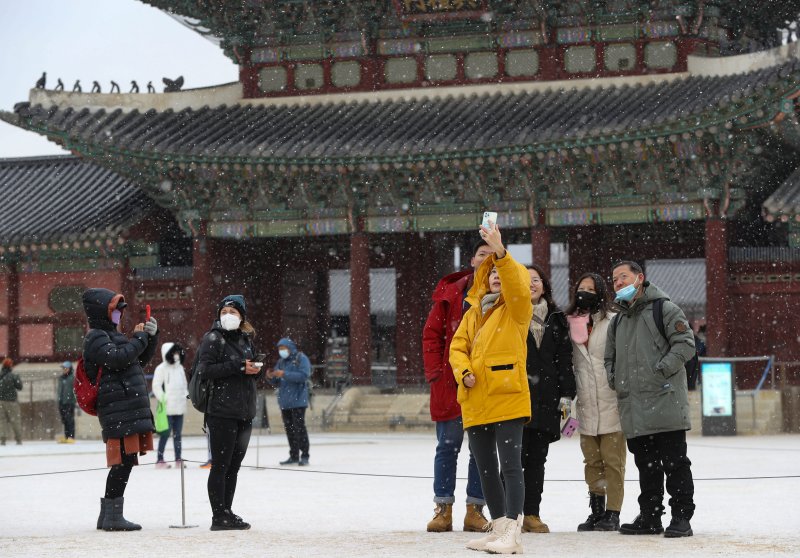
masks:
POLYGON ((612 271, 620 313, 608 328, 605 367, 617 393, 622 431, 639 470, 639 510, 626 535, 692 536, 694 482, 686 455, 689 395, 684 364, 694 354, 694 336, 683 311, 645 281, 641 266, 622 261, 612 271), (662 335, 653 304, 663 299, 662 335), (664 477, 672 508, 666 531, 664 477))

